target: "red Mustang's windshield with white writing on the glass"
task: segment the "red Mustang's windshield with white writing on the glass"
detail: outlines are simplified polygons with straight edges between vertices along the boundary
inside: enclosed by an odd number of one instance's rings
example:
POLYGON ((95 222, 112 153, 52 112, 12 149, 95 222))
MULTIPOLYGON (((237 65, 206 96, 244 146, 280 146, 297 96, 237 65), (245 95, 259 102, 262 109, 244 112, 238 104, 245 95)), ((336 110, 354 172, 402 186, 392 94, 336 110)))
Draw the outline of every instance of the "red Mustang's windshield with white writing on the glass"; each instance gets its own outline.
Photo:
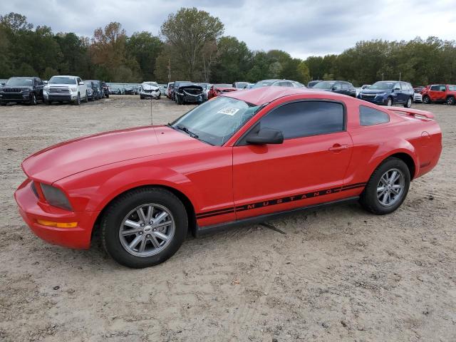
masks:
POLYGON ((172 128, 186 129, 204 142, 221 146, 260 108, 242 100, 218 96, 175 120, 172 128))

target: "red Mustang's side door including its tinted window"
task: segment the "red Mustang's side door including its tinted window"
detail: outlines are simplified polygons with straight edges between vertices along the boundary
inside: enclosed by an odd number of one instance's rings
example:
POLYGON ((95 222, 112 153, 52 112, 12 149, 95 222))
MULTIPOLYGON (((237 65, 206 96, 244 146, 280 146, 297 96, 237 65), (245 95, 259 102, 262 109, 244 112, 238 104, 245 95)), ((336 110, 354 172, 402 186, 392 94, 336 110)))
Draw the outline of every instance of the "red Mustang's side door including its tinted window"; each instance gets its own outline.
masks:
POLYGON ((266 113, 252 130, 259 128, 281 130, 284 142, 249 145, 244 135, 233 147, 236 219, 341 198, 337 189, 353 146, 343 103, 285 103, 266 113))

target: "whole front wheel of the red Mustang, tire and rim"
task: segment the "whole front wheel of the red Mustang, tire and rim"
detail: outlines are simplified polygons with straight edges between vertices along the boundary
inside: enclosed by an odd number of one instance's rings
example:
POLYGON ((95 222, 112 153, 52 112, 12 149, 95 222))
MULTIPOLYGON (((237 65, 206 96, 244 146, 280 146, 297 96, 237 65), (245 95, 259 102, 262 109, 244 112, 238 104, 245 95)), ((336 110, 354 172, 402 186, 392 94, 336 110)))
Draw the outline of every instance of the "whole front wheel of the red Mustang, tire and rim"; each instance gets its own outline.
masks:
POLYGON ((188 230, 184 205, 171 192, 144 187, 115 199, 101 221, 106 252, 124 266, 140 269, 172 257, 188 230))

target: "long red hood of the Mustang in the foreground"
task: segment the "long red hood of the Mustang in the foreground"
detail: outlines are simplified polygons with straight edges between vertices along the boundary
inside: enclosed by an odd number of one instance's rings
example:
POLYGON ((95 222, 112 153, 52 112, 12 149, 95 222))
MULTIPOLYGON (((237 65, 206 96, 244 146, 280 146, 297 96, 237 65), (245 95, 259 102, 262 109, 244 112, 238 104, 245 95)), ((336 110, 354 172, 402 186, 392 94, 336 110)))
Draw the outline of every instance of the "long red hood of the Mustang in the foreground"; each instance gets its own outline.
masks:
POLYGON ((47 147, 22 162, 34 180, 53 183, 78 172, 135 158, 206 147, 167 126, 147 126, 89 135, 47 147))

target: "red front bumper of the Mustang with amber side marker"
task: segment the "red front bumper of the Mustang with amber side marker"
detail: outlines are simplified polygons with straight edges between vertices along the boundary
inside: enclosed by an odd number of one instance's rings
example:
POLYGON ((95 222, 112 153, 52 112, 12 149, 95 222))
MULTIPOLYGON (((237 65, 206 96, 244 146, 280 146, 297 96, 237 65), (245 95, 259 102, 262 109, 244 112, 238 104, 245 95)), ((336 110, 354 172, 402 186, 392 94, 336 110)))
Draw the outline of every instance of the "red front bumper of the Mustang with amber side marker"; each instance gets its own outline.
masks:
POLYGON ((93 224, 100 212, 69 212, 38 201, 31 190, 31 180, 26 180, 14 192, 19 213, 37 237, 51 244, 75 249, 88 249, 93 224), (56 228, 38 224, 37 220, 53 222, 78 222, 73 228, 56 228))

